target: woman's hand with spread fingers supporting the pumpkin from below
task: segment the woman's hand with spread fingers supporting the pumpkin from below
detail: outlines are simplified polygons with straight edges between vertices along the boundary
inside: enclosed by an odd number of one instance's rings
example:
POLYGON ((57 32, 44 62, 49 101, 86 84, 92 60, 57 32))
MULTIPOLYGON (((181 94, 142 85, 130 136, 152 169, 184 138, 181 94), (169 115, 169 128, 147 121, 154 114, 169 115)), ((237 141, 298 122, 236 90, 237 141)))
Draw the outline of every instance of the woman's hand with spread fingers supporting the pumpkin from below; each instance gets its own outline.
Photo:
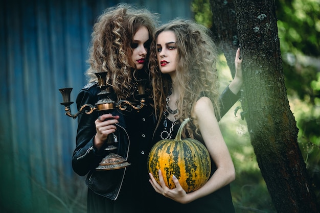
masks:
POLYGON ((172 180, 176 187, 170 190, 170 188, 168 188, 165 184, 161 170, 159 170, 160 184, 157 183, 157 181, 154 179, 151 173, 149 173, 149 175, 151 178, 149 182, 151 183, 151 185, 157 193, 162 194, 163 196, 179 203, 185 204, 191 202, 191 200, 189 200, 189 194, 187 194, 186 191, 181 187, 179 180, 175 176, 172 177, 172 180))

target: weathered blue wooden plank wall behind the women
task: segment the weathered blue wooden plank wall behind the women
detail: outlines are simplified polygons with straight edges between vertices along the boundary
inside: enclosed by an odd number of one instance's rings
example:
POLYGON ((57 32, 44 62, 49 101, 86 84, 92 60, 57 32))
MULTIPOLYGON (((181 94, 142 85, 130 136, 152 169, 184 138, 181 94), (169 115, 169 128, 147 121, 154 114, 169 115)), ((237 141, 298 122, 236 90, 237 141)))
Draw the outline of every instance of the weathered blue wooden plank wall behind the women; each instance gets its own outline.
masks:
MULTIPOLYGON (((191 1, 126 2, 166 22, 192 17, 191 1)), ((73 87, 75 101, 94 21, 119 2, 0 2, 1 212, 85 212, 84 178, 71 168, 77 122, 64 115, 58 89, 73 87)))

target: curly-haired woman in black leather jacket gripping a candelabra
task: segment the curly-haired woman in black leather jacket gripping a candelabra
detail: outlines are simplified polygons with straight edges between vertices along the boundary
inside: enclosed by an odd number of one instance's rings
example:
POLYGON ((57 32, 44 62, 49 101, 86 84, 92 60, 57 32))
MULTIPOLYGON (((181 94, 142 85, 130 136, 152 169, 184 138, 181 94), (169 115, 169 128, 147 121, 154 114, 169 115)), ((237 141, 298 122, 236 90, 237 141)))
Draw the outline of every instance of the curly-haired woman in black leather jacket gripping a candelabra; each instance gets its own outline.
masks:
MULTIPOLYGON (((73 170, 80 176, 87 175, 87 212, 149 212, 154 190, 149 183, 147 156, 152 147, 158 103, 157 74, 147 64, 155 60, 149 57, 153 44, 154 24, 157 18, 145 9, 121 4, 106 10, 98 19, 90 46, 89 83, 79 92, 78 110, 85 104, 95 105, 98 93, 95 73, 108 72, 106 83, 112 87, 109 98, 139 104, 134 81, 147 79, 146 106, 140 110, 114 109, 107 114, 80 114, 76 148, 73 153, 73 170), (151 45, 152 44, 152 45, 151 45), (105 157, 105 141, 108 135, 118 145, 117 153, 131 165, 127 168, 97 171, 105 157)), ((153 64, 155 62, 153 61, 153 64)), ((240 70, 241 71, 241 70, 240 70)), ((226 112, 237 100, 242 84, 241 72, 221 95, 226 112), (239 83, 240 80, 240 83, 239 83)), ((225 113, 221 112, 221 114, 225 113)))

